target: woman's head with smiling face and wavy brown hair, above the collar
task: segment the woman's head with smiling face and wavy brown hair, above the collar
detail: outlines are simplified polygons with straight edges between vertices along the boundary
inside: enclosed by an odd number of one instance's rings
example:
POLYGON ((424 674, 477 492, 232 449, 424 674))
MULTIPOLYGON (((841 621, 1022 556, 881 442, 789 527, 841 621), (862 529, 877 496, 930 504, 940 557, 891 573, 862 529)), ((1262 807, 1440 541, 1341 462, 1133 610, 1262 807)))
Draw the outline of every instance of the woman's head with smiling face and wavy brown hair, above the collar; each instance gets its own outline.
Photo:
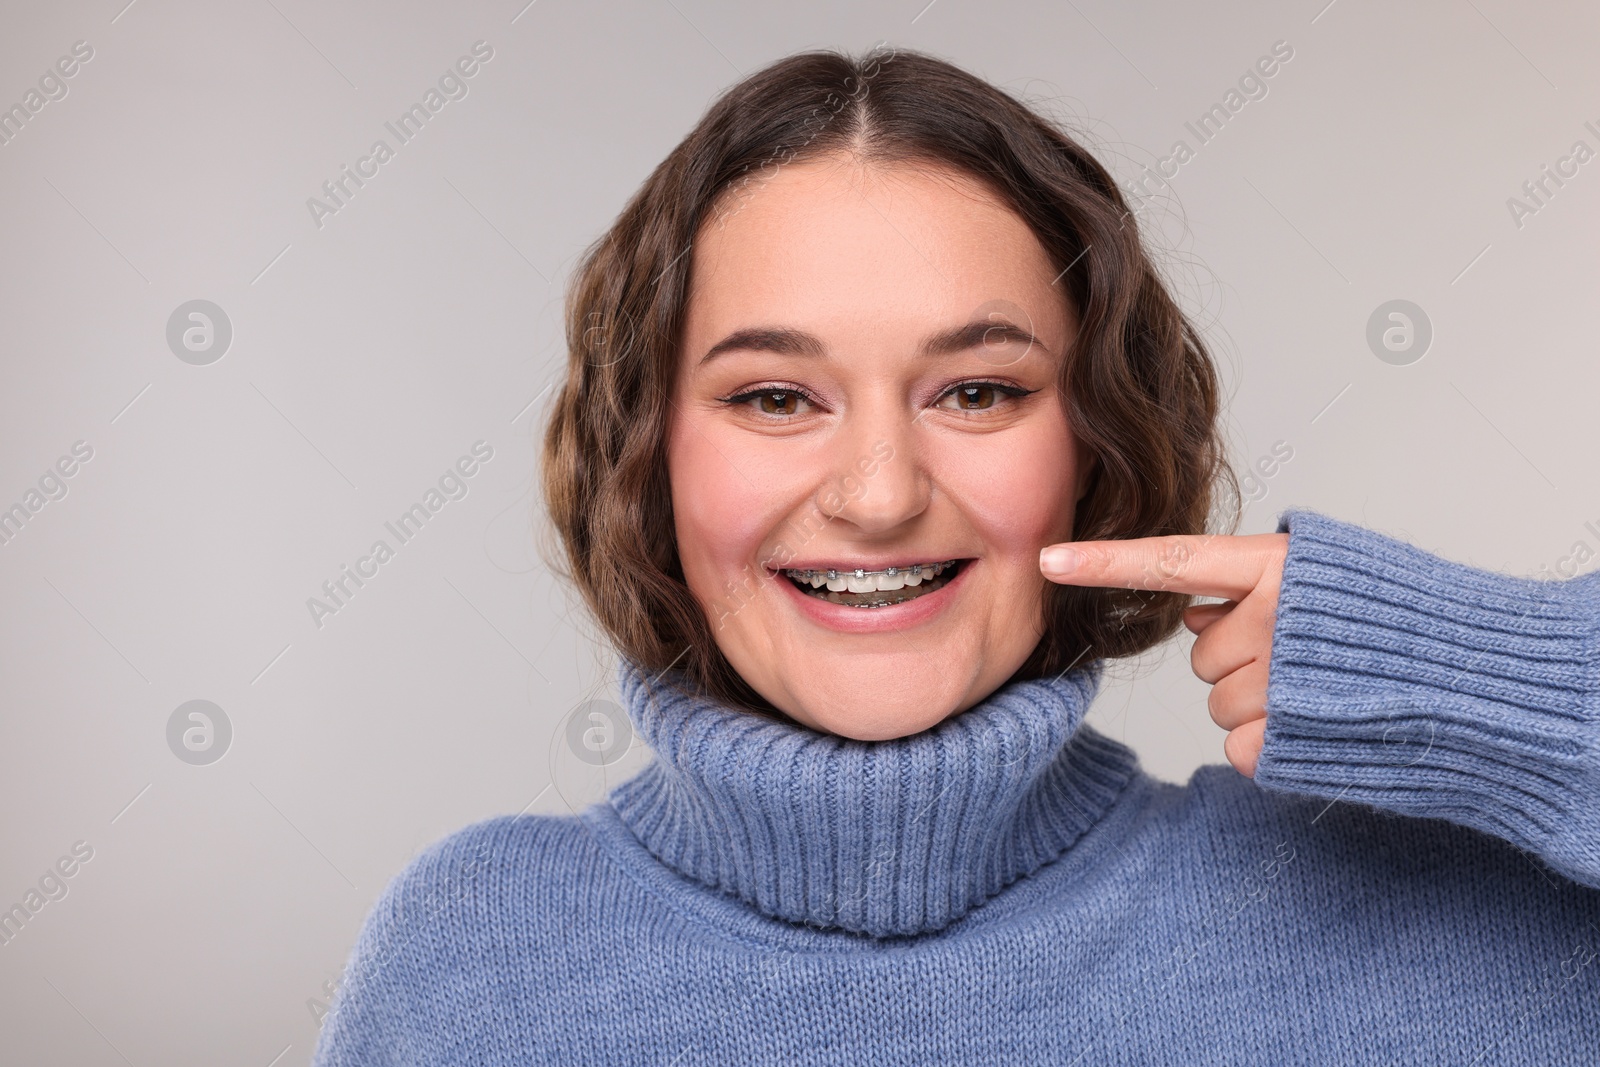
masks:
POLYGON ((589 251, 568 323, 546 496, 590 609, 640 669, 843 736, 1170 637, 1181 597, 1050 585, 1038 547, 1202 533, 1218 483, 1237 498, 1214 368, 1112 176, 915 53, 726 93, 589 251), (874 446, 894 459, 784 558, 874 446), (938 561, 936 595, 864 613, 778 574, 938 561), (763 595, 710 609, 750 574, 763 595), (901 685, 862 702, 835 656, 901 685))

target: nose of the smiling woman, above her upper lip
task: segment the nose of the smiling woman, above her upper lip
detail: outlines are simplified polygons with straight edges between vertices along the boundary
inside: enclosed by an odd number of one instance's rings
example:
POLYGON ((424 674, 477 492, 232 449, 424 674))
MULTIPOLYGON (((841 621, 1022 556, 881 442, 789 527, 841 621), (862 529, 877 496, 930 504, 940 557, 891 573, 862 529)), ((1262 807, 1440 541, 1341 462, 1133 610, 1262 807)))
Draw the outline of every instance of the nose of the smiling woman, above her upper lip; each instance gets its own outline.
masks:
POLYGON ((928 509, 933 483, 909 413, 859 413, 834 442, 830 477, 816 502, 862 534, 883 534, 928 509))

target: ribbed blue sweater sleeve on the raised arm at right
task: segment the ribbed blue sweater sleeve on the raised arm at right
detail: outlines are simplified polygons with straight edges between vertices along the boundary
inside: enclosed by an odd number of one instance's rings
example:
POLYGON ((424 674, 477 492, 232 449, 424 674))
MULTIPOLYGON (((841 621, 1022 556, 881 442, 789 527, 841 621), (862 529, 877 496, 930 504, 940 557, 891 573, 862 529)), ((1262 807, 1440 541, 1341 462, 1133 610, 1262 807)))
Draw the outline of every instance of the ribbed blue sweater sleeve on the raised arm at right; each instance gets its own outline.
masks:
POLYGON ((1310 510, 1254 781, 1448 819, 1600 888, 1600 571, 1514 577, 1310 510))

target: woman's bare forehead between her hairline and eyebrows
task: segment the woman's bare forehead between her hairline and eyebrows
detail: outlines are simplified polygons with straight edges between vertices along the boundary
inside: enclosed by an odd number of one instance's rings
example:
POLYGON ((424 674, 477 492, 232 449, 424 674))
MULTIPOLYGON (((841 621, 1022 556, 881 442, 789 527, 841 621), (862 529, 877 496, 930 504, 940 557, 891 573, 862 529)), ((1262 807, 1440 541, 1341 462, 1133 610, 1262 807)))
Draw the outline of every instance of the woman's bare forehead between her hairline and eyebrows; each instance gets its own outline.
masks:
POLYGON ((760 320, 827 328, 952 318, 1005 301, 1035 333, 1066 296, 1027 222, 981 179, 934 163, 826 157, 736 181, 701 227, 691 336, 760 320))

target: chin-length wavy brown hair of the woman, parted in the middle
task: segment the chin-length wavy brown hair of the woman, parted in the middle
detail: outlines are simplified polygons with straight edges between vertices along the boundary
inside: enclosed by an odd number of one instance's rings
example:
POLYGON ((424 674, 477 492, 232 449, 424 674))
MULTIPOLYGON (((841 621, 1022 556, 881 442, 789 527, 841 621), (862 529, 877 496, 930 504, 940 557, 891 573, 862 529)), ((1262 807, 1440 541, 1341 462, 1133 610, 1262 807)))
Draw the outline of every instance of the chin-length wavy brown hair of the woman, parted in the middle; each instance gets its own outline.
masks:
MULTIPOLYGON (((1117 182, 1085 147, 925 53, 808 51, 773 62, 712 104, 584 253, 566 293, 566 379, 542 458, 565 549, 557 569, 618 651, 766 713, 774 709, 722 656, 683 581, 666 464, 669 395, 694 237, 762 174, 826 154, 965 171, 1022 216, 1050 254, 1080 323, 1059 386, 1096 461, 1075 537, 1205 533, 1222 482, 1238 522, 1211 357, 1146 254, 1117 182)), ((1013 680, 1142 653, 1178 630, 1189 603, 1158 587, 1045 585, 1045 633, 1013 680)))

